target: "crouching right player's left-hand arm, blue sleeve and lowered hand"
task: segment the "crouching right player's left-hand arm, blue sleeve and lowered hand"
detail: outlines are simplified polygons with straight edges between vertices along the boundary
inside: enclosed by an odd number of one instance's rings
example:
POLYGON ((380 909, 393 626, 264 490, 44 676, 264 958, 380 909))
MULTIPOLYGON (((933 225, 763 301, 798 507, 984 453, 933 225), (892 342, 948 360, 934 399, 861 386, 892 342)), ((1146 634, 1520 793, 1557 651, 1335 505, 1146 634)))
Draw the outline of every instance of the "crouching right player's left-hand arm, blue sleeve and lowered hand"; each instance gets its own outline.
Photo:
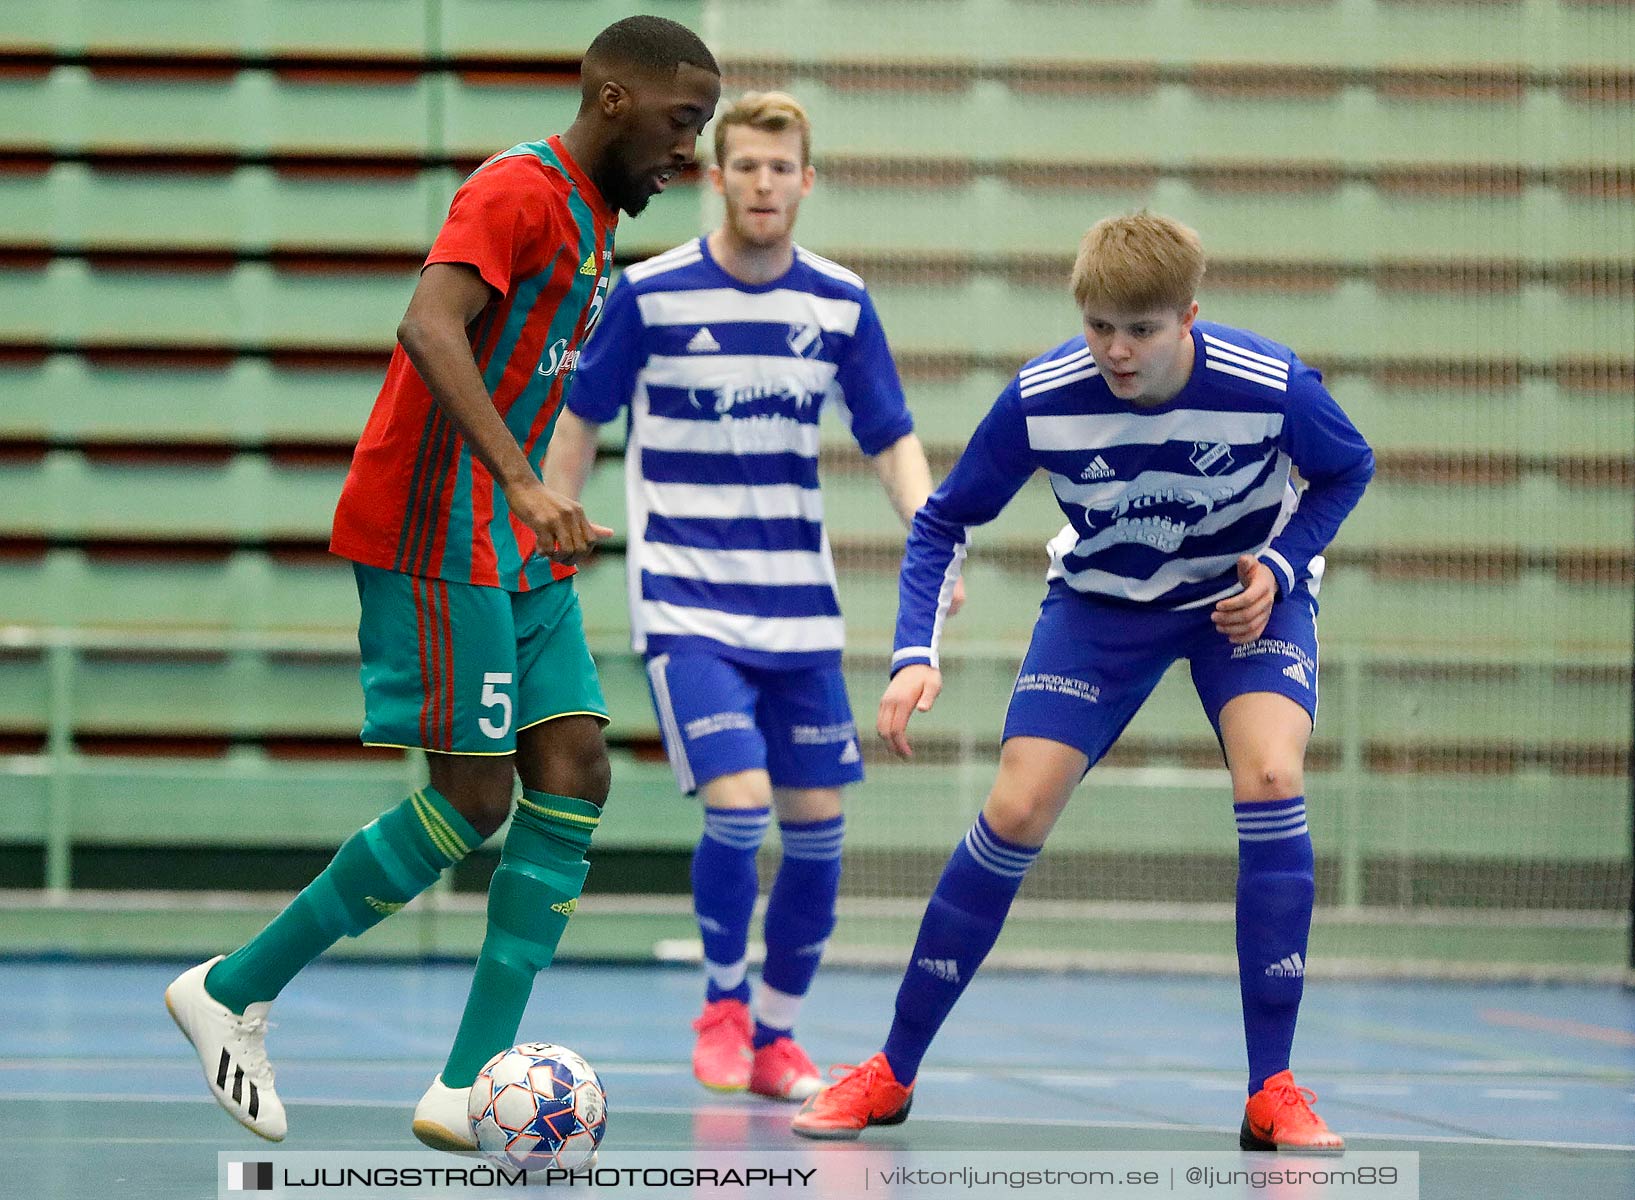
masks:
POLYGON ((1015 383, 983 417, 960 461, 914 513, 898 575, 898 628, 891 683, 880 698, 875 731, 901 757, 912 757, 907 726, 942 692, 942 623, 965 562, 968 530, 997 517, 1033 474, 1015 383))

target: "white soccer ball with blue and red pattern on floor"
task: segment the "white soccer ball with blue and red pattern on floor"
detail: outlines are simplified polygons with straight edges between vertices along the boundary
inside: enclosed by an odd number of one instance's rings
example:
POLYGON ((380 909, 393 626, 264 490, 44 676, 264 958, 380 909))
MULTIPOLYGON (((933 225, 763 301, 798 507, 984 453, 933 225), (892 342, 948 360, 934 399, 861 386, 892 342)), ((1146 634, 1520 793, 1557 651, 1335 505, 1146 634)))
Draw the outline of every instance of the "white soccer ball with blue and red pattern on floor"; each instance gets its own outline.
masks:
POLYGON ((466 1113, 477 1149, 500 1166, 574 1171, 602 1143, 608 1095, 567 1046, 525 1041, 477 1071, 466 1113))

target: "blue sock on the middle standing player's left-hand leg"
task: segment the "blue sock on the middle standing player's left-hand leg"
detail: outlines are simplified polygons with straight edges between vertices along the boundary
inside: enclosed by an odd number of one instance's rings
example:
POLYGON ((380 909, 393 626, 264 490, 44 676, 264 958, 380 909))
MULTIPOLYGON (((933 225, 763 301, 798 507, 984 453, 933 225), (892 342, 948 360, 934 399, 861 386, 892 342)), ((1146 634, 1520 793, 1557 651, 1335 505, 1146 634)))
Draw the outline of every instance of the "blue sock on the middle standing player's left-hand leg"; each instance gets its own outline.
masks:
POLYGON ((760 878, 755 852, 772 824, 770 808, 706 808, 693 850, 693 914, 705 940, 705 999, 749 1004, 746 947, 760 878))

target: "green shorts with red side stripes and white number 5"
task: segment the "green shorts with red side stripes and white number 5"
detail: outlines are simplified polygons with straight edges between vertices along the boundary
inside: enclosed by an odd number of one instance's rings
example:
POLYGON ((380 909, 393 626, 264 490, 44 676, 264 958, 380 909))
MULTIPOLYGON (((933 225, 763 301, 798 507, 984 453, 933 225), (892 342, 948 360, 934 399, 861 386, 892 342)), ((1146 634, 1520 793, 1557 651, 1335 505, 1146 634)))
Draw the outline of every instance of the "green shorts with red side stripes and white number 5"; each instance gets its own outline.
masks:
POLYGON ((366 746, 510 754, 518 729, 608 719, 572 579, 507 592, 358 562, 353 572, 366 746))

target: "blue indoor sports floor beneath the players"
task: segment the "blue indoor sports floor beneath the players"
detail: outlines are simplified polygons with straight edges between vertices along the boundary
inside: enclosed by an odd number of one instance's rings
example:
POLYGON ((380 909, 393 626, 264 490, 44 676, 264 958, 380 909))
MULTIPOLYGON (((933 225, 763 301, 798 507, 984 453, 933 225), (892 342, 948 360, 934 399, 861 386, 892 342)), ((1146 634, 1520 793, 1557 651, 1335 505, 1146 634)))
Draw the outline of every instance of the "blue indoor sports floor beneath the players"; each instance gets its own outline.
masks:
MULTIPOLYGON (((216 1153, 270 1149, 204 1094, 162 992, 183 963, 0 963, 0 1195, 191 1200, 216 1153)), ((441 1064, 469 966, 317 965, 273 1009, 280 1149, 420 1149, 409 1113, 441 1064)), ((878 1048, 898 976, 831 969, 801 1023, 819 1063, 878 1048)), ((701 1090, 682 968, 553 968, 522 1038, 595 1064, 605 1149, 849 1153, 790 1108, 701 1090)), ((1354 1149, 1418 1151, 1424 1197, 1635 1195, 1635 992, 1615 986, 1316 981, 1300 1081, 1354 1149)), ((912 1118, 921 1149, 1236 1149, 1236 983, 984 973, 943 1030, 912 1118)))

